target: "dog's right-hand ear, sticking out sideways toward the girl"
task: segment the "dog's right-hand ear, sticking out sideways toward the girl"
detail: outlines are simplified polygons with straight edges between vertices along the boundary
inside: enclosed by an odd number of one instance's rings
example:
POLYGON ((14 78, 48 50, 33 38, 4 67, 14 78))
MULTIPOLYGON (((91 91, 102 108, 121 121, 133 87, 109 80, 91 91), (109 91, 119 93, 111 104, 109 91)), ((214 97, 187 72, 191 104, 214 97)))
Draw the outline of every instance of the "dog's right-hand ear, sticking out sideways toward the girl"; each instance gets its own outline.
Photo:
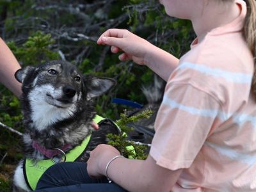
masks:
POLYGON ((99 77, 88 77, 84 78, 84 83, 88 88, 88 99, 93 97, 98 97, 103 93, 107 92, 113 86, 115 86, 116 81, 111 78, 99 78, 99 77))

